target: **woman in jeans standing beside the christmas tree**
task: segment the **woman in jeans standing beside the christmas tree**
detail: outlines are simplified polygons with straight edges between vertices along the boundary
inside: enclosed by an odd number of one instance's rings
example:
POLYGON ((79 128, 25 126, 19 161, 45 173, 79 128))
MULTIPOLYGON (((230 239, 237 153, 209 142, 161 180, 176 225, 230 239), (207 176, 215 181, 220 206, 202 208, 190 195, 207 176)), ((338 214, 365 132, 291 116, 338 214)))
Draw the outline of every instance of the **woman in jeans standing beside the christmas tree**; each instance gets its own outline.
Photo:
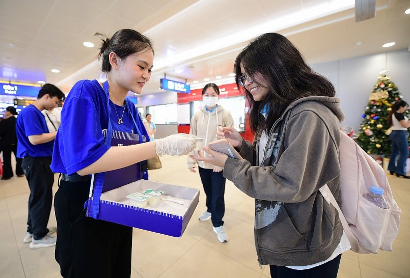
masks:
POLYGON ((410 121, 404 115, 408 104, 404 100, 396 101, 389 115, 387 123, 391 126, 392 132, 389 135, 392 142, 392 153, 390 155, 389 165, 387 170, 391 175, 396 174, 397 177, 410 179, 406 173, 406 161, 408 157, 408 132, 410 121))

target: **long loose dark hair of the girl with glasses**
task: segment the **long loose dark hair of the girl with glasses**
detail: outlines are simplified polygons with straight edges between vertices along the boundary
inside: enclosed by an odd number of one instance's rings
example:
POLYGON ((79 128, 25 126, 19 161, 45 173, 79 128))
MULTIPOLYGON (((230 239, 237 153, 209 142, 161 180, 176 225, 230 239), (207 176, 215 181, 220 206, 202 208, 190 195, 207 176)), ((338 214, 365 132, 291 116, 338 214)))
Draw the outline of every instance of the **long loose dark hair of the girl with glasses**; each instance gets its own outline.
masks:
MULTIPOLYGON (((249 122, 252 132, 269 130, 281 117, 286 107, 296 99, 307 96, 335 96, 332 83, 314 72, 305 62, 302 54, 284 36, 267 33, 255 38, 235 60, 234 71, 240 76, 240 66, 248 73, 259 72, 267 81, 267 97, 255 101, 245 88, 236 85, 250 103, 249 122), (260 114, 267 105, 266 120, 260 114)), ((261 86, 260 84, 258 84, 261 86)))

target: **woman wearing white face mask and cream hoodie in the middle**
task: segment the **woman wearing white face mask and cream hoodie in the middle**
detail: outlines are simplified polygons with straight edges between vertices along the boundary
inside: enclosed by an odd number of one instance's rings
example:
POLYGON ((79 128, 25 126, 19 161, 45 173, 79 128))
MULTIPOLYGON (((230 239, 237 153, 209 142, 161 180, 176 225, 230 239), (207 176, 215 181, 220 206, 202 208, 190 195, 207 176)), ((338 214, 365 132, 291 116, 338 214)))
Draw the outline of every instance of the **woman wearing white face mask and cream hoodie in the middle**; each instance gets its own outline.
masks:
MULTIPOLYGON (((219 126, 233 126, 232 115, 228 110, 225 110, 221 105, 218 105, 219 88, 209 83, 202 90, 204 107, 195 113, 190 122, 190 134, 194 134, 203 138, 204 146, 216 140, 216 131, 219 126)), ((191 154, 194 154, 192 152, 191 154)), ((196 160, 188 156, 188 169, 196 173, 196 160)), ((225 178, 223 176, 223 168, 213 166, 206 162, 198 162, 199 175, 204 186, 206 194, 207 210, 201 214, 199 220, 206 221, 211 219, 213 231, 217 234, 217 238, 221 242, 228 241, 228 235, 225 232, 224 221, 222 218, 225 214, 225 178)))

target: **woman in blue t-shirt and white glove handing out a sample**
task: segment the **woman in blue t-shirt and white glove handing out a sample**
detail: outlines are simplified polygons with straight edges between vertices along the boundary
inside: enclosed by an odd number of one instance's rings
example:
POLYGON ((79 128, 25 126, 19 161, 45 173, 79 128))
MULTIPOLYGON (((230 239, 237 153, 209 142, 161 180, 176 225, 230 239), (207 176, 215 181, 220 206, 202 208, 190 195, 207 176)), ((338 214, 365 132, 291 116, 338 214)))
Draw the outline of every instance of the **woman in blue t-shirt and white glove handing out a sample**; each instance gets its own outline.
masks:
POLYGON ((57 219, 56 260, 63 277, 130 277, 132 227, 86 217, 91 174, 112 171, 155 155, 185 155, 195 136, 174 134, 130 146, 103 143, 103 129, 148 137, 138 112, 126 96, 141 94, 151 77, 151 41, 130 29, 103 40, 99 58, 107 81, 80 80, 61 113, 51 169, 61 173, 54 196, 57 219), (111 110, 108 117, 108 109, 111 110))

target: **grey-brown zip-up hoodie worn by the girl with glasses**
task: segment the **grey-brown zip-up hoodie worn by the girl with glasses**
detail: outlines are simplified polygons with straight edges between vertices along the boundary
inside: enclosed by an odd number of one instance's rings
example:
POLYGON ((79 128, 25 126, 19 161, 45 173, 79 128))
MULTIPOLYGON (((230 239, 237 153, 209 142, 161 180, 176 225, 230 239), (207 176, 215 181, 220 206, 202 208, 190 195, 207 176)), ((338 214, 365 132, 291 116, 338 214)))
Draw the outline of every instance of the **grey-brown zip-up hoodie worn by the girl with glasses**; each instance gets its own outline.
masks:
POLYGON ((261 265, 318 263, 340 242, 339 214, 319 192, 327 183, 341 205, 339 126, 344 116, 339 102, 319 96, 294 101, 267 134, 262 159, 258 141, 243 141, 239 153, 244 159, 225 163, 224 177, 255 198, 261 265))

